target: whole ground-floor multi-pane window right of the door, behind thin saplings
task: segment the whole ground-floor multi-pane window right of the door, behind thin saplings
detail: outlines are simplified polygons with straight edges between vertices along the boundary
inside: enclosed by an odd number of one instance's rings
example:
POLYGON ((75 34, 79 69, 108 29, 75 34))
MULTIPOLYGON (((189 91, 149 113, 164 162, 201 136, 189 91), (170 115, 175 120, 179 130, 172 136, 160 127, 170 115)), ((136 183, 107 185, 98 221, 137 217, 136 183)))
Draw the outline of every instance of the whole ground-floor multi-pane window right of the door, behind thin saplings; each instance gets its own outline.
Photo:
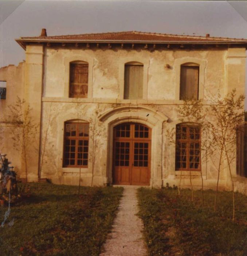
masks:
POLYGON ((200 171, 201 129, 196 123, 176 125, 175 170, 200 171))

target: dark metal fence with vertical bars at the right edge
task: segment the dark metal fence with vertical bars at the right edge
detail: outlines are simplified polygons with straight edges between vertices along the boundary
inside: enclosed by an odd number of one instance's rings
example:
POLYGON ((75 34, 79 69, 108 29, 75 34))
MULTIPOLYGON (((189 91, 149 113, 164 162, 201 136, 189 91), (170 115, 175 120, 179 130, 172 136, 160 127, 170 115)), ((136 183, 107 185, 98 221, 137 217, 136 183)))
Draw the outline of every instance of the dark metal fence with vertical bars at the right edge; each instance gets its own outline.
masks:
POLYGON ((239 176, 247 177, 247 122, 236 128, 236 170, 239 176))

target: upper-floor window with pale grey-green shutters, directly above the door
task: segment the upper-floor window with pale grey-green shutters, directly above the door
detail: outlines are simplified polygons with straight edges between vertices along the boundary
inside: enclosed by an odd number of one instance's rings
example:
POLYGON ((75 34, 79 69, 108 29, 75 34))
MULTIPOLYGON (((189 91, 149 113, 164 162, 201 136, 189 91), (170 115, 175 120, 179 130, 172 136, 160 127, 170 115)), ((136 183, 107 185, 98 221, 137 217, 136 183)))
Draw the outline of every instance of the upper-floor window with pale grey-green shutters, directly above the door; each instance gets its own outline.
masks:
POLYGON ((128 62, 124 67, 124 99, 142 99, 143 64, 128 62))

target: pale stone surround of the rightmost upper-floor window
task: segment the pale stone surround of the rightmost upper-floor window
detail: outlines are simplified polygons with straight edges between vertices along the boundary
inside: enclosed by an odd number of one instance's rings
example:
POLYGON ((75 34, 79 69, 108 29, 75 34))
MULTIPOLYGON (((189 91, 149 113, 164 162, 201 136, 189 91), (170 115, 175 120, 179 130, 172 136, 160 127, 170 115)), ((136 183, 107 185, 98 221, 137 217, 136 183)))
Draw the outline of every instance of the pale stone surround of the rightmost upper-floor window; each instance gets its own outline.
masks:
POLYGON ((175 69, 175 100, 183 102, 183 100, 179 99, 180 95, 180 69, 181 65, 186 63, 195 63, 199 65, 199 85, 198 85, 198 99, 203 99, 204 97, 204 83, 205 83, 205 68, 207 61, 194 58, 194 57, 183 57, 176 59, 174 61, 174 69, 175 69))

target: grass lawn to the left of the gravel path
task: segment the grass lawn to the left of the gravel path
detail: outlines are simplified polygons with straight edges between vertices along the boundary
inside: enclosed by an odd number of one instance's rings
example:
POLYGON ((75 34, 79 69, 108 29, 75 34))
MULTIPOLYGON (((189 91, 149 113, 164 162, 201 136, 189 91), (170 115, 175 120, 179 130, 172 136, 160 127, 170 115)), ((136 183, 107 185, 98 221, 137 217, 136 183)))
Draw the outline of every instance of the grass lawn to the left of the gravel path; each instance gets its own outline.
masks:
MULTIPOLYGON (((0 255, 99 255, 122 188, 81 187, 79 197, 75 186, 30 186, 30 197, 12 206, 0 227, 0 255)), ((6 210, 0 208, 1 221, 6 210)))

